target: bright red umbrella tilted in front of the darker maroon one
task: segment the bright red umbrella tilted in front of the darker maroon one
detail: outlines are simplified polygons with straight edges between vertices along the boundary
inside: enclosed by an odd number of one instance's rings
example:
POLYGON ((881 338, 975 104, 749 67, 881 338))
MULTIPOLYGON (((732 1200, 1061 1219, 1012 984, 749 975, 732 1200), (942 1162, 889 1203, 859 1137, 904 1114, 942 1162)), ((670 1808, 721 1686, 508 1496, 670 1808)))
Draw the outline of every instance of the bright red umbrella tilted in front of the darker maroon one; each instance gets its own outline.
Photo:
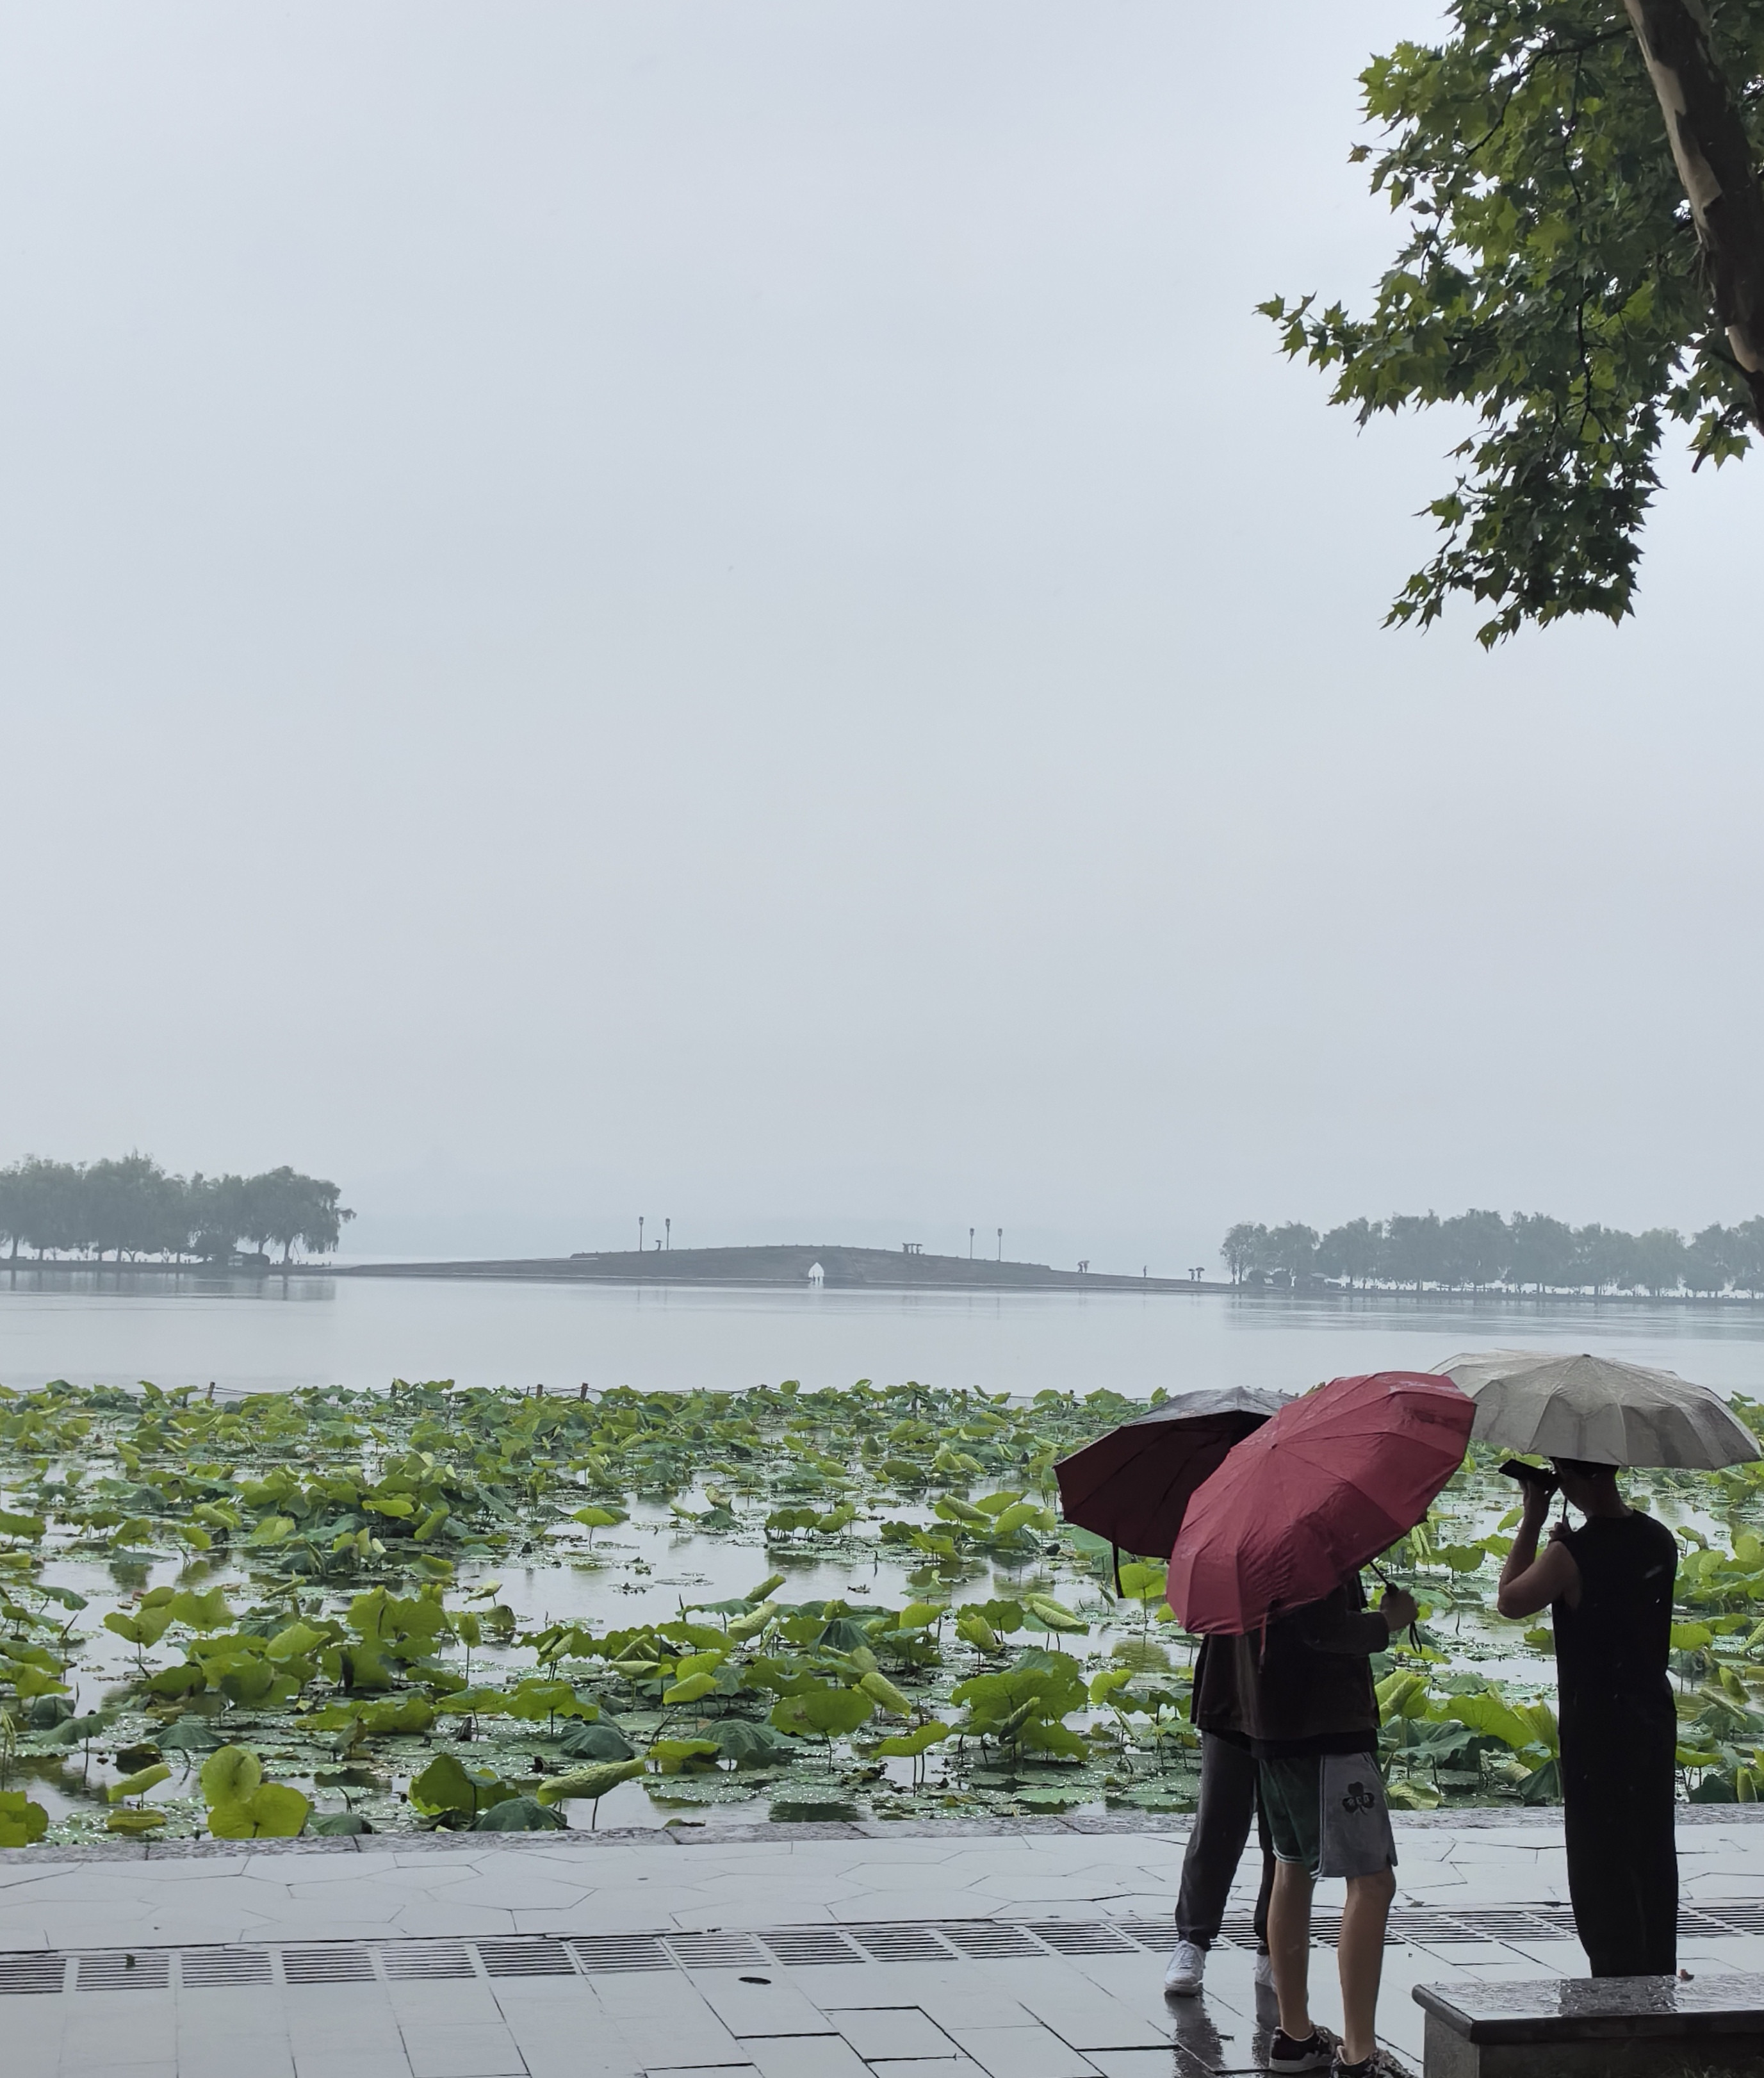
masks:
POLYGON ((1188 1502, 1168 1590, 1184 1629, 1245 1635, 1321 1602, 1421 1521, 1473 1421, 1475 1401, 1421 1371, 1288 1401, 1188 1502))

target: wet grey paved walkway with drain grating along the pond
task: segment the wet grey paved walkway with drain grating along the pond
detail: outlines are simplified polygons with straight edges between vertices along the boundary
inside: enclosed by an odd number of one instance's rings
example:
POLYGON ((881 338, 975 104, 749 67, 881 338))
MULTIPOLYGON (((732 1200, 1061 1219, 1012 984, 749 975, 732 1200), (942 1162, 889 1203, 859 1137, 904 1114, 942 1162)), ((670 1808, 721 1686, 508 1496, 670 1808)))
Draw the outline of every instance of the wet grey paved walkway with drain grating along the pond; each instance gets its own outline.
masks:
MULTIPOLYGON (((31 2078, 1203 2078, 1259 2068, 1242 1914, 1159 1991, 1182 1822, 175 1843, 0 1856, 31 2078)), ((1419 1982, 1581 1974, 1554 1814, 1398 1818, 1382 2032, 1419 1982)), ((1764 1824, 1681 1827, 1681 1962, 1764 1966, 1764 1824), (1756 1930, 1754 1930, 1756 1926, 1756 1930)), ((1245 1876, 1253 1870, 1245 1866, 1245 1876)), ((1319 1887, 1319 1920, 1340 1885, 1319 1887)), ((1313 1964, 1338 2020, 1334 1964, 1313 1964)))

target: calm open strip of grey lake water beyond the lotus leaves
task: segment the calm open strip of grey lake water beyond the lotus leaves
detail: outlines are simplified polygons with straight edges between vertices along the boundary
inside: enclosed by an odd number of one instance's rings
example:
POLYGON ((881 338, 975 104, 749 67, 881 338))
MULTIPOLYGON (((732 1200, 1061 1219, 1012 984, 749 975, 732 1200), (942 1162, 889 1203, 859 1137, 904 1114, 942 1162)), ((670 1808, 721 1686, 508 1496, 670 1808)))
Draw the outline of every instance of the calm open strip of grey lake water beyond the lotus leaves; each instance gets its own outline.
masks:
POLYGON ((1294 1390, 1473 1347, 1571 1347, 1764 1396, 1764 1305, 1222 1293, 837 1293, 0 1268, 0 1384, 1294 1390))

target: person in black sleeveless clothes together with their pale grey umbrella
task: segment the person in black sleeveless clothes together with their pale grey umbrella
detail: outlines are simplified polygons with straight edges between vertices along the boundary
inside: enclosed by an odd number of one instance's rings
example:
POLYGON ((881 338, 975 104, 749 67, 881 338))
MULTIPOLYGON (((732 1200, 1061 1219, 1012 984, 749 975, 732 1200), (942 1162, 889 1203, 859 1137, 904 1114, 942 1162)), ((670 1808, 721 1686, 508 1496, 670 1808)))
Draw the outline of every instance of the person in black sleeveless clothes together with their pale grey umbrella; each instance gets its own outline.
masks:
POLYGON ((1502 1617, 1556 1629, 1562 1831, 1575 1930, 1594 1976, 1671 1976, 1679 1962, 1677 1712, 1666 1679, 1679 1546, 1631 1509, 1619 1465, 1735 1465, 1758 1440, 1671 1371, 1589 1355, 1488 1351, 1440 1369, 1477 1403, 1473 1438, 1550 1457, 1508 1463, 1525 1504, 1500 1569, 1502 1617), (1550 1496, 1567 1515, 1540 1552, 1550 1496))

